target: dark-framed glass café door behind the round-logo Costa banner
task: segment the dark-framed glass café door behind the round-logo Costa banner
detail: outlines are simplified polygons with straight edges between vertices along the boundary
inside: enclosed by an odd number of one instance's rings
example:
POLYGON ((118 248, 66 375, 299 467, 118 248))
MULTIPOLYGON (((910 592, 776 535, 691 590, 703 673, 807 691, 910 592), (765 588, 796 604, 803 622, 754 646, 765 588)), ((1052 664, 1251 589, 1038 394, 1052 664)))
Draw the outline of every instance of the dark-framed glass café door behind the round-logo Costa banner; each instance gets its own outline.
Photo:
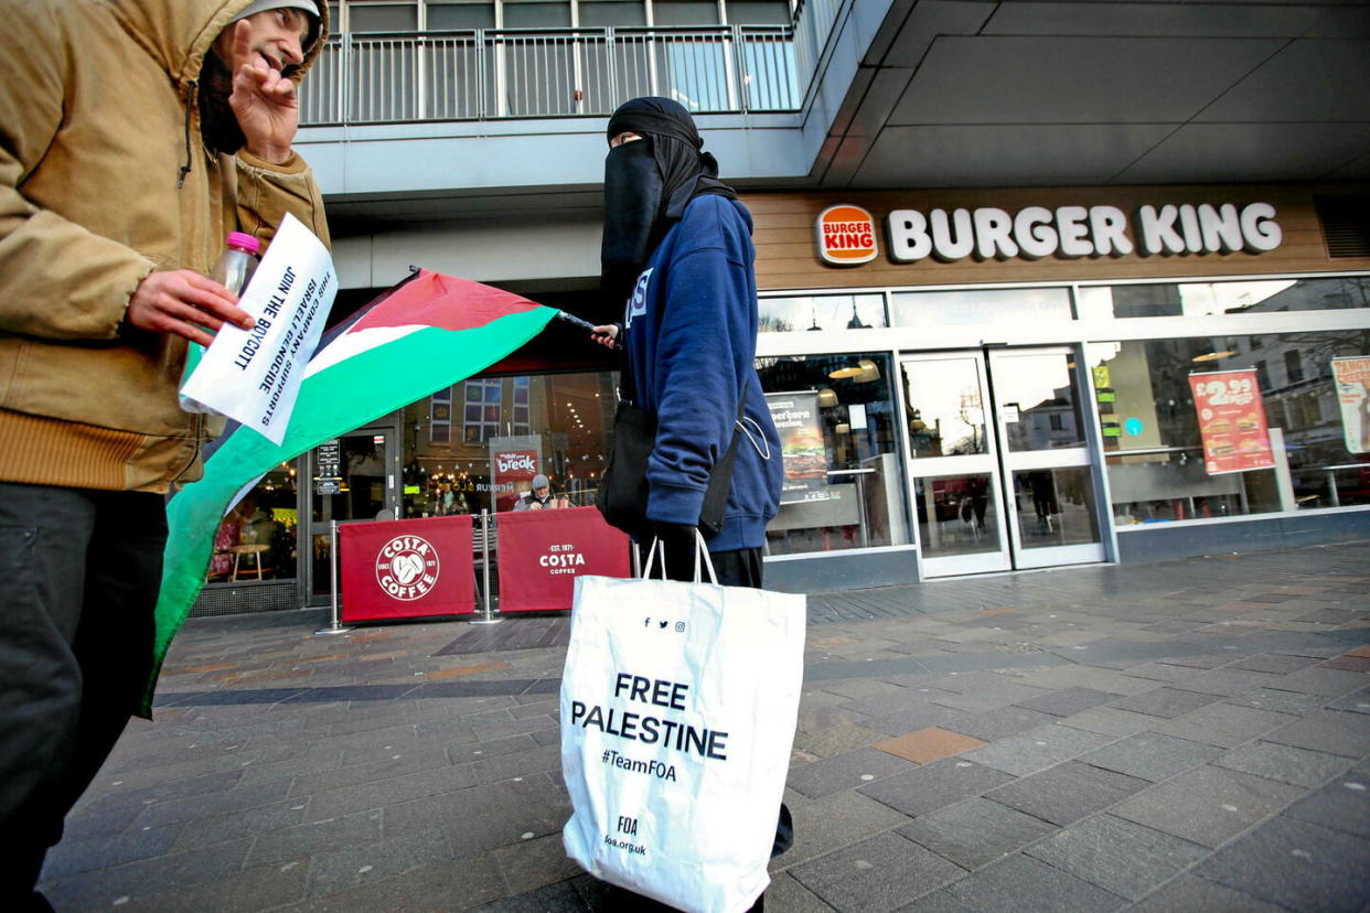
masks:
POLYGON ((332 595, 333 520, 399 516, 400 459, 395 428, 360 428, 310 450, 310 601, 332 595))

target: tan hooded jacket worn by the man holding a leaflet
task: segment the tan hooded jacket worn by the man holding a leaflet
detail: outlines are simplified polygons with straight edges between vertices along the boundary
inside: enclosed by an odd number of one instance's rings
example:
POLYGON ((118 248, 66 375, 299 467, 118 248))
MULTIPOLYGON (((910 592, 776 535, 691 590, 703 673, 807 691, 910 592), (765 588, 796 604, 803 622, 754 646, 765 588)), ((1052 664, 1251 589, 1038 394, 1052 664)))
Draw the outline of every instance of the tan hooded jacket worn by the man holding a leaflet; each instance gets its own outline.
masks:
POLYGON ((204 55, 248 3, 0 0, 0 480, 199 478, 186 342, 123 326, 130 296, 153 270, 208 275, 227 231, 269 241, 286 211, 327 242, 303 159, 200 140, 204 55))

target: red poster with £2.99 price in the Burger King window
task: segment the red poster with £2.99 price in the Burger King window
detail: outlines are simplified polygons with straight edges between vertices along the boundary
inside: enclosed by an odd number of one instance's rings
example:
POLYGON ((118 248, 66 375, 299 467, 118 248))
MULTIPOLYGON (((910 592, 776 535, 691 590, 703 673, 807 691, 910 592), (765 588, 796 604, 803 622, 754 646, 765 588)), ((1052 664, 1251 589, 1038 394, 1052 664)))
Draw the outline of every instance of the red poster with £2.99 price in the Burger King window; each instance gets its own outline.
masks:
POLYGON ((1189 375, 1208 475, 1266 470, 1275 464, 1256 370, 1189 375))

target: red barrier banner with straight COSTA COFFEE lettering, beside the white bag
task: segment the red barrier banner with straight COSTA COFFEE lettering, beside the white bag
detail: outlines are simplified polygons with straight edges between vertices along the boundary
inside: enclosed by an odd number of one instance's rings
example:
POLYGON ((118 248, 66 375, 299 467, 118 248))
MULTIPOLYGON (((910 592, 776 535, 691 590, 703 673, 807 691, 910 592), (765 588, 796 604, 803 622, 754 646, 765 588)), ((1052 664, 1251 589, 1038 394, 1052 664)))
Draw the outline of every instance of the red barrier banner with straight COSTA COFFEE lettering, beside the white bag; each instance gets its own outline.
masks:
POLYGON ((496 527, 501 613, 569 610, 575 578, 629 575, 627 537, 595 508, 501 513, 496 527))

